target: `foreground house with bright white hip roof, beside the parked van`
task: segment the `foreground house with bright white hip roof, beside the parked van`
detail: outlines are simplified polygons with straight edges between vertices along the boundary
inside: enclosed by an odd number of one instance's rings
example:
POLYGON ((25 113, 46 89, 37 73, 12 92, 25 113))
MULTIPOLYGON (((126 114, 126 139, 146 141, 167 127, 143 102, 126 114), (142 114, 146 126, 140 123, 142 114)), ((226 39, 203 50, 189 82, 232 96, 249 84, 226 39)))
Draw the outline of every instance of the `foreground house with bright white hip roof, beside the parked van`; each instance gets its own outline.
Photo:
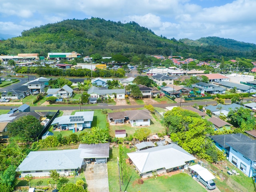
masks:
POLYGON ((196 159, 174 143, 128 153, 127 155, 142 178, 153 176, 153 172, 165 174, 178 170, 178 168, 183 168, 184 165, 196 159))

